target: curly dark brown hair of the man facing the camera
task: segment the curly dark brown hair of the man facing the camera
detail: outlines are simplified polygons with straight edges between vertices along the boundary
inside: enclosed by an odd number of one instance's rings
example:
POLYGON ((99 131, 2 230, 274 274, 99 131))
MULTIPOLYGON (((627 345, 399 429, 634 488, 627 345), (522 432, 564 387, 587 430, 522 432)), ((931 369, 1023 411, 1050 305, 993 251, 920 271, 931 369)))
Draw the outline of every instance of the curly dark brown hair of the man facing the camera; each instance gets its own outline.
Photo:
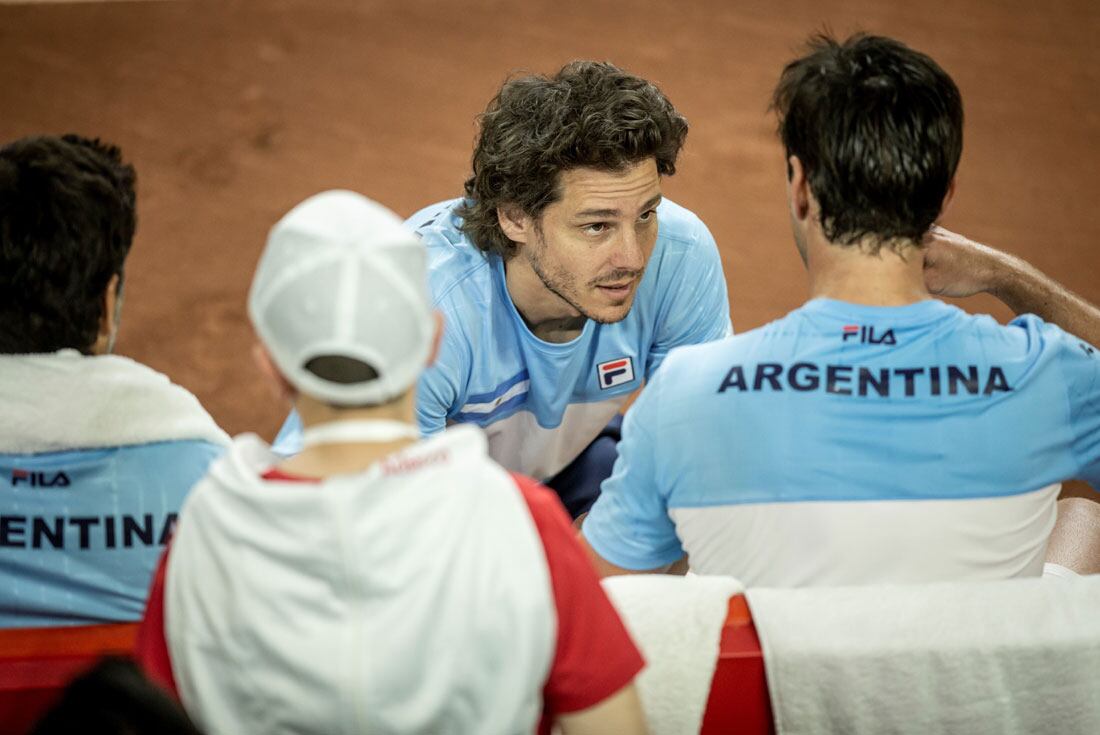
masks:
POLYGON ((496 210, 515 205, 534 218, 559 199, 562 172, 622 171, 649 157, 671 176, 688 121, 656 86, 601 62, 573 62, 552 77, 504 84, 480 118, 473 174, 460 207, 462 231, 488 253, 516 251, 496 210))

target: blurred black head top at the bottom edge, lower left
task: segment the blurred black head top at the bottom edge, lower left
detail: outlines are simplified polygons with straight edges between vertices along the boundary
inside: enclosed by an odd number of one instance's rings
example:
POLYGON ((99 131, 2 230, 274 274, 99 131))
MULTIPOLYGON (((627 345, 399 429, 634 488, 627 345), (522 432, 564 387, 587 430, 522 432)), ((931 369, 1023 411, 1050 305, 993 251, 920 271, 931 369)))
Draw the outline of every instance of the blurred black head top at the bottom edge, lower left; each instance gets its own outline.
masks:
POLYGON ((133 661, 105 658, 74 679, 31 735, 200 735, 133 661))

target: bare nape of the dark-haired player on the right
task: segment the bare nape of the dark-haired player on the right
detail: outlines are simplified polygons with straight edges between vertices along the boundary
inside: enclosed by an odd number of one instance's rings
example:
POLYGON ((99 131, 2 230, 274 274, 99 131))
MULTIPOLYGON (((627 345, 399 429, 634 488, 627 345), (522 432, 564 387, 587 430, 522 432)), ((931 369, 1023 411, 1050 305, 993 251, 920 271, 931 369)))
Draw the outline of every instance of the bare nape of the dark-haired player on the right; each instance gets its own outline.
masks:
POLYGON ((865 239, 851 245, 809 233, 806 270, 811 298, 867 306, 904 306, 931 298, 924 285, 924 251, 911 241, 865 239), (877 245, 881 245, 875 252, 877 245))

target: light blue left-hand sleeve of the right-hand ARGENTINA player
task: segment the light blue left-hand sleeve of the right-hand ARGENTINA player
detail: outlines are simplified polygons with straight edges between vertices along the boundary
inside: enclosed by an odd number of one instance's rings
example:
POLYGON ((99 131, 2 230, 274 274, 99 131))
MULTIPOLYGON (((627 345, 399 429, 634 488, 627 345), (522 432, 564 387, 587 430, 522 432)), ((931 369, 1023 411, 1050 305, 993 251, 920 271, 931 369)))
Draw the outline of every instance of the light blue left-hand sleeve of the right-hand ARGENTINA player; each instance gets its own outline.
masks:
POLYGON ((615 468, 582 527, 596 553, 623 569, 658 569, 684 556, 658 472, 669 448, 653 438, 667 373, 658 373, 627 412, 615 468))

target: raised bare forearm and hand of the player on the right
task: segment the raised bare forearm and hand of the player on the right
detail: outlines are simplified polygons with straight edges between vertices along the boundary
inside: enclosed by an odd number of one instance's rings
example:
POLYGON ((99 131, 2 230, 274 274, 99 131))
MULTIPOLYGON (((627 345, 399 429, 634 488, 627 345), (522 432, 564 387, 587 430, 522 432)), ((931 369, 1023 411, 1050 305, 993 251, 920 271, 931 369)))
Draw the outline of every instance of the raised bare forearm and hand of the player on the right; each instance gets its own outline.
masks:
POLYGON ((938 296, 988 293, 1016 314, 1034 314, 1100 344, 1100 309, 1033 265, 942 227, 925 239, 924 279, 938 296))

